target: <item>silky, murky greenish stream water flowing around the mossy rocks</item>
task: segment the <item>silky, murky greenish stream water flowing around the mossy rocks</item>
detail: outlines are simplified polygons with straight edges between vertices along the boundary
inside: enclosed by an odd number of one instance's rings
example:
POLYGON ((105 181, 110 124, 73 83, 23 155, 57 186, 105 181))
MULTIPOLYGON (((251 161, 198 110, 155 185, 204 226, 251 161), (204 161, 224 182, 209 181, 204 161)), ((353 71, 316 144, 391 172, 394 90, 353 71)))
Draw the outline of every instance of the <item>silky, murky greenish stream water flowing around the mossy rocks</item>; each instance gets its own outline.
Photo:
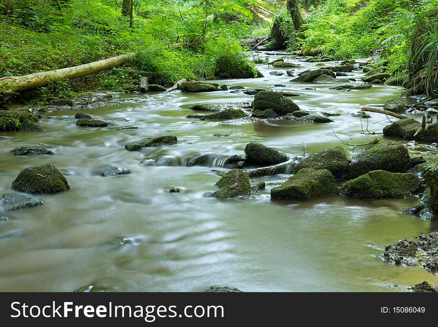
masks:
MULTIPOLYGON (((303 65, 297 73, 315 68, 313 63, 289 61, 303 65)), ((250 141, 301 158, 303 141, 312 154, 335 145, 349 150, 337 137, 355 144, 390 139, 361 135, 366 122, 350 114, 398 97, 401 88, 373 85, 368 90, 334 91, 328 89, 333 84, 289 82, 286 75, 269 75, 285 69, 257 66, 265 77, 220 83, 246 88, 284 84, 273 90, 306 94, 290 98, 301 109, 340 115, 323 124, 200 121, 186 118, 193 113, 187 106, 251 102, 253 96, 174 91, 117 95, 132 100, 81 110, 114 124, 106 128, 76 126, 69 118, 78 110, 72 109, 44 114, 51 117, 40 120, 45 132, 1 132, 12 138, 0 139, 0 195, 17 193, 11 182, 20 170, 46 163, 66 174, 71 189, 37 195, 44 201, 37 208, 7 213, 0 208, 0 216, 8 218, 0 222, 0 290, 70 292, 93 285, 119 291, 198 292, 227 285, 248 292, 394 292, 424 280, 437 285, 438 277, 424 268, 397 266, 376 256, 385 245, 437 228, 431 220, 400 214, 419 203, 417 196, 271 200, 270 189, 286 180, 287 173, 260 178, 267 182, 266 189, 250 197, 206 196, 217 190, 219 173, 227 170, 221 159, 243 154, 250 141), (115 129, 130 125, 138 129, 115 129), (124 149, 127 142, 159 135, 176 135, 179 142, 136 152, 124 149), (56 155, 9 153, 39 143, 55 149, 56 155), (186 166, 200 154, 209 155, 204 166, 186 166), (149 160, 140 164, 145 158, 149 160), (127 168, 131 174, 100 176, 108 166, 127 168), (171 187, 181 192, 169 193, 171 187)), ((385 116, 371 115, 370 131, 381 132, 389 124, 385 116)), ((429 144, 409 151, 414 157, 437 155, 429 144)))

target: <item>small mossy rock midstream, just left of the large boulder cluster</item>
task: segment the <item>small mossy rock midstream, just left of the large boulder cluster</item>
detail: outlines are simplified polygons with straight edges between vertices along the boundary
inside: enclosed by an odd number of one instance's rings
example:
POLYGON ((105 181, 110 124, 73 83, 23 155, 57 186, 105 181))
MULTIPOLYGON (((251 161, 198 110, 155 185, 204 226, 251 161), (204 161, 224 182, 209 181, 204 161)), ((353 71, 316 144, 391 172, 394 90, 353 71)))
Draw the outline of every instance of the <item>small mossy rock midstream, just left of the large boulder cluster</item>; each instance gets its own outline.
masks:
POLYGON ((242 195, 248 195, 251 192, 248 174, 241 169, 233 169, 223 175, 216 186, 219 191, 213 193, 218 199, 235 198, 242 195))

